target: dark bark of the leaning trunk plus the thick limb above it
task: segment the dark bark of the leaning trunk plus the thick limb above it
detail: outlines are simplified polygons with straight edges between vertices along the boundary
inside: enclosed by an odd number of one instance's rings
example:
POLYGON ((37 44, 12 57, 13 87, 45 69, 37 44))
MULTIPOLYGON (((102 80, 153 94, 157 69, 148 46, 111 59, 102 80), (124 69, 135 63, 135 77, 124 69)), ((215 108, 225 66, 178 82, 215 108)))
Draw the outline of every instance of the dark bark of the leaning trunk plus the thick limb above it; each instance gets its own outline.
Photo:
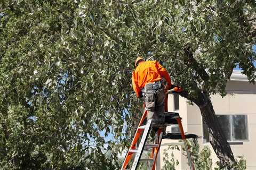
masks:
MULTIPOLYGON (((203 65, 195 60, 193 52, 190 49, 190 45, 187 44, 183 50, 185 52, 185 56, 187 56, 187 61, 185 62, 190 63, 193 69, 200 75, 201 79, 205 83, 208 83, 210 77, 205 71, 203 65)), ((220 160, 219 166, 221 168, 227 167, 228 169, 232 169, 231 167, 235 163, 235 158, 229 143, 227 142, 227 139, 220 128, 211 99, 208 95, 206 95, 206 92, 197 87, 196 83, 193 89, 197 91, 196 97, 191 97, 187 91, 182 91, 180 95, 189 99, 190 101, 193 101, 200 108, 203 121, 209 128, 210 143, 215 151, 215 154, 220 160)))

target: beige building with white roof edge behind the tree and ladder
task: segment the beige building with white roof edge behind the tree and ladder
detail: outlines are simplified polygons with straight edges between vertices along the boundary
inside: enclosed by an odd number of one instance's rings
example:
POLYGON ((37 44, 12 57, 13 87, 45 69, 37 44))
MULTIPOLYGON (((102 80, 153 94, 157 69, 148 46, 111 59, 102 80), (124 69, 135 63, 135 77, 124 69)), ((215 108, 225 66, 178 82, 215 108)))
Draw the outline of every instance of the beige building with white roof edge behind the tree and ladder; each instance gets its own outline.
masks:
MULTIPOLYGON (((244 156, 247 162, 247 169, 256 169, 255 153, 256 147, 256 84, 250 84, 247 77, 241 71, 234 71, 230 81, 227 82, 227 96, 211 96, 212 104, 222 129, 230 143, 230 147, 235 157, 244 156)), ((202 122, 201 112, 196 105, 189 105, 185 98, 178 95, 169 96, 169 111, 179 112, 185 132, 195 133, 202 137, 198 140, 201 148, 209 146, 212 151, 213 164, 217 162, 217 157, 213 151, 206 126, 202 122)), ((177 127, 169 126, 166 131, 177 131, 177 127)), ((162 143, 170 143, 171 140, 163 140, 162 143)), ((176 141, 177 142, 177 141, 176 141)), ((158 157, 157 169, 164 165, 164 149, 161 147, 158 157)), ((179 160, 178 169, 190 169, 187 158, 178 150, 168 150, 174 154, 174 158, 179 160)), ((213 165, 214 166, 214 165, 213 165)))

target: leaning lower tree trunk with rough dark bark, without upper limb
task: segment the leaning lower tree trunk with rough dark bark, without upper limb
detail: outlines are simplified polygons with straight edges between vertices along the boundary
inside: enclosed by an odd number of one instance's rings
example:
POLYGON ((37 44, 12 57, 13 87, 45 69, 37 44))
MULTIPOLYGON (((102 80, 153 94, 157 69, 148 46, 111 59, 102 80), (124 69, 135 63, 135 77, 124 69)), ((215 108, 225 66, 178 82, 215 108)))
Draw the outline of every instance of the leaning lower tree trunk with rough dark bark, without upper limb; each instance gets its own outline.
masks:
POLYGON ((191 98, 186 91, 182 91, 180 95, 193 101, 199 107, 203 121, 209 128, 211 146, 220 160, 219 166, 221 168, 227 167, 228 169, 232 169, 232 166, 235 163, 235 158, 229 143, 220 128, 211 99, 203 92, 198 92, 197 98, 191 98))

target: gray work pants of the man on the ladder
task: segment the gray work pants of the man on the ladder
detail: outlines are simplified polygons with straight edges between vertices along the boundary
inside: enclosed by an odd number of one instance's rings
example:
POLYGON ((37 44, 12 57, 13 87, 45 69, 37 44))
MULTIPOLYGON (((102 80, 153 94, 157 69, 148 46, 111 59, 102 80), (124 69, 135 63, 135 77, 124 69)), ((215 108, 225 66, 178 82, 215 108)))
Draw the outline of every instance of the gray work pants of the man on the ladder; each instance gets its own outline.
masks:
POLYGON ((144 101, 146 105, 146 109, 148 111, 147 119, 152 119, 154 126, 159 126, 159 124, 163 124, 164 117, 164 90, 150 90, 147 92, 143 92, 144 101))

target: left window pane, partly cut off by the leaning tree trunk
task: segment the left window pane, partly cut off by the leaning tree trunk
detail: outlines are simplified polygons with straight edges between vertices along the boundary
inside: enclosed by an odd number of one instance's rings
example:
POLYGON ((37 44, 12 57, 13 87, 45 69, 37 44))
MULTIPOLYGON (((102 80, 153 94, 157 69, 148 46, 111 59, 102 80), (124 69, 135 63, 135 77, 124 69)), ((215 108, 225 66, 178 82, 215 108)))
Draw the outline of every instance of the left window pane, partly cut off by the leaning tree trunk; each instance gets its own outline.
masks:
POLYGON ((217 118, 226 139, 230 141, 230 115, 217 115, 217 118))

